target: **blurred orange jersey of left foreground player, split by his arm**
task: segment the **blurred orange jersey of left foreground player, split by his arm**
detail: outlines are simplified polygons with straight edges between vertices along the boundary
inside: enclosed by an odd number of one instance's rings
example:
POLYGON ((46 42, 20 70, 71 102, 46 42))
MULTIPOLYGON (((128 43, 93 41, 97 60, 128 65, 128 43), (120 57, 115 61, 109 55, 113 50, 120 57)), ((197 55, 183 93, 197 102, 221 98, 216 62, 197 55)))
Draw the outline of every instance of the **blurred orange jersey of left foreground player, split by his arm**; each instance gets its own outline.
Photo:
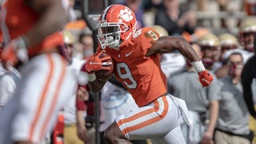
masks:
MULTIPOLYGON (((6 26, 10 40, 26 34, 28 30, 38 21, 40 17, 23 0, 8 0, 3 6, 6 10, 6 26)), ((4 34, 5 35, 5 34, 4 34)), ((38 54, 41 50, 60 46, 63 43, 62 33, 57 32, 46 37, 37 46, 30 47, 29 56, 38 54)))

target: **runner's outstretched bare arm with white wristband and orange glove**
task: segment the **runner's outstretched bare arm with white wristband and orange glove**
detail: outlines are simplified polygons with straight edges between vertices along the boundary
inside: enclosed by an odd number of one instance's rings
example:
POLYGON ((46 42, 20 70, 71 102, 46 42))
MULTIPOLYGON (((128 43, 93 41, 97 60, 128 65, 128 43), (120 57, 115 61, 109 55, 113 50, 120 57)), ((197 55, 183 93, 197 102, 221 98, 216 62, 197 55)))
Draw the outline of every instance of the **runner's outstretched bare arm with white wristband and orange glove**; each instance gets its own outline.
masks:
POLYGON ((178 50, 185 58, 190 60, 194 69, 199 74, 199 81, 202 86, 209 86, 214 77, 210 74, 205 66, 203 66, 201 59, 198 57, 189 42, 186 42, 184 38, 166 36, 158 38, 154 42, 154 45, 146 53, 146 57, 150 57, 152 54, 166 54, 171 53, 174 50, 178 50))

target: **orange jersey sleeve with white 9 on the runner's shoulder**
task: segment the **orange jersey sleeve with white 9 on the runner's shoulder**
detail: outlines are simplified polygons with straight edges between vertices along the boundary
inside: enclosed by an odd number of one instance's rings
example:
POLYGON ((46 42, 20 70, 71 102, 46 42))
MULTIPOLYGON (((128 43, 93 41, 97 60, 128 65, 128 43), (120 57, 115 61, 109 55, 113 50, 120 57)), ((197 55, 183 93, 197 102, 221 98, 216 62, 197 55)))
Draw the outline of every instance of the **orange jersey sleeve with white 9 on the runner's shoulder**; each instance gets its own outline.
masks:
POLYGON ((152 27, 146 27, 142 29, 141 35, 142 35, 141 37, 142 49, 143 49, 143 54, 145 55, 147 50, 154 45, 154 43, 158 40, 158 38, 160 38, 160 35, 152 27))

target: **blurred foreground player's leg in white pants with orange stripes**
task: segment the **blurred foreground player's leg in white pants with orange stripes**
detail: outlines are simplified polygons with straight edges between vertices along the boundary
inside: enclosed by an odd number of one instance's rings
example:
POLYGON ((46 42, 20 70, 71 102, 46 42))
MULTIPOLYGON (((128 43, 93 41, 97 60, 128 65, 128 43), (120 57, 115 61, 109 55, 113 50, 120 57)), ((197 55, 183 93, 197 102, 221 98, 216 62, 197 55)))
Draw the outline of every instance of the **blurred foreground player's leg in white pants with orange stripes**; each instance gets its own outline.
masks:
POLYGON ((18 143, 38 143, 54 126, 66 98, 73 94, 74 75, 59 54, 42 54, 24 68, 17 90, 21 104, 11 137, 18 143))

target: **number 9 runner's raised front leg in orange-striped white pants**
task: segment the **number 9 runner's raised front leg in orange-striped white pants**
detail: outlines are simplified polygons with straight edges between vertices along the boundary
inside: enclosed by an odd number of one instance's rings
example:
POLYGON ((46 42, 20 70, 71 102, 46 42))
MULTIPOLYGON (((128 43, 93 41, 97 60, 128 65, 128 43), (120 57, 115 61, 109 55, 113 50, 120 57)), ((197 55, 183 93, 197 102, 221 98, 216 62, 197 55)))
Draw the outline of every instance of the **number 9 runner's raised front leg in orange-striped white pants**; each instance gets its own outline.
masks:
POLYGON ((160 137, 178 126, 182 117, 174 101, 169 96, 162 96, 148 106, 119 116, 115 122, 106 130, 106 141, 160 137))

